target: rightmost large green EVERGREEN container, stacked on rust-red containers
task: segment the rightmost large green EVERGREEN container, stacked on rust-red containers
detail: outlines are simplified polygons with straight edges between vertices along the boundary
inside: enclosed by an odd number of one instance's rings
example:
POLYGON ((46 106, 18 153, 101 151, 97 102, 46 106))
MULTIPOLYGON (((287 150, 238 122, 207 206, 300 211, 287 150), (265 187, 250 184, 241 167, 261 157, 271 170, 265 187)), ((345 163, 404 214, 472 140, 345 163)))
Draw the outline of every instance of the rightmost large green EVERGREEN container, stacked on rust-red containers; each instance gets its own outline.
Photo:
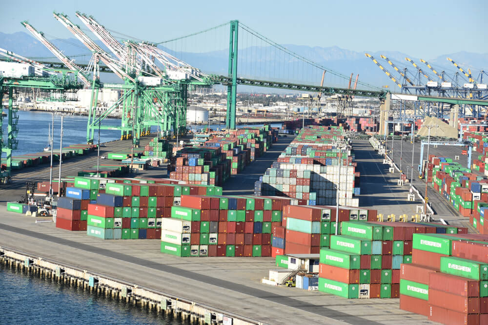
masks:
POLYGON ((441 272, 468 279, 488 280, 488 264, 459 257, 441 257, 441 272))

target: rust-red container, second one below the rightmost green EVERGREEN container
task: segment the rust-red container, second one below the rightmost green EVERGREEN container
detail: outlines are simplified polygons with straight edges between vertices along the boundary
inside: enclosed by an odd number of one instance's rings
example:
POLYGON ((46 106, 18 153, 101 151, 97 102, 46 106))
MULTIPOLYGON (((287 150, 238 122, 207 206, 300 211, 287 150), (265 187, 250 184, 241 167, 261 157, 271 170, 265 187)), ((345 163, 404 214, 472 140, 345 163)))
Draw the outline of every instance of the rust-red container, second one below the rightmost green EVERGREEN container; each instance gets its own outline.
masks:
POLYGON ((454 310, 466 314, 478 314, 480 312, 479 297, 463 297, 445 291, 428 289, 428 303, 431 306, 437 306, 454 310))

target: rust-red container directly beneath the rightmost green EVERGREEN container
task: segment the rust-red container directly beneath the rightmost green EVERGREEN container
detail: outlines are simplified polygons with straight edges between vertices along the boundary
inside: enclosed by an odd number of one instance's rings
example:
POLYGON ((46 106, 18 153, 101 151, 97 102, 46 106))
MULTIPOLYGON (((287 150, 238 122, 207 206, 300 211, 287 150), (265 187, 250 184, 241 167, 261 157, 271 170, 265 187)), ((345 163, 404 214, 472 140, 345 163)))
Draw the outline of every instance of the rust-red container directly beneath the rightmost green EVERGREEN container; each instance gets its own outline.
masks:
MULTIPOLYGON (((479 297, 480 282, 446 273, 429 273, 428 287, 463 297, 479 297)), ((439 305, 436 305, 439 306, 439 305)), ((442 307, 442 306, 441 306, 442 307)), ((447 307, 446 307, 447 308, 447 307)))

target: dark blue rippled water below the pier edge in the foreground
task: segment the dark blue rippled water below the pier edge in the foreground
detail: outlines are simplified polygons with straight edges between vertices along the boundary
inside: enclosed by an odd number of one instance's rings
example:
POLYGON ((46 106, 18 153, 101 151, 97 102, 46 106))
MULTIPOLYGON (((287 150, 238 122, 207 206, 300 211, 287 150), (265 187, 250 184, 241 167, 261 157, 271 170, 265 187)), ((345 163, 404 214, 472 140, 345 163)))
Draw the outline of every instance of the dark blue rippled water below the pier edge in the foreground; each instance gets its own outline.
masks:
POLYGON ((2 325, 188 324, 0 265, 2 325))

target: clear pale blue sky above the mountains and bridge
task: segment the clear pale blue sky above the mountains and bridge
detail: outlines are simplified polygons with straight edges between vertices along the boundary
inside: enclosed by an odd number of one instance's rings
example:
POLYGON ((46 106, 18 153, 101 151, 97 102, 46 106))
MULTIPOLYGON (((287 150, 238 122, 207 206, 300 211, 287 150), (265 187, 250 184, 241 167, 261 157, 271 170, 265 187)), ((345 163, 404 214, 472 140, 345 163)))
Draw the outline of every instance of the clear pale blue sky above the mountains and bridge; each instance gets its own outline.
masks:
POLYGON ((151 41, 239 19, 281 44, 400 51, 426 58, 458 51, 488 53, 486 0, 240 2, 245 4, 221 0, 3 1, 0 32, 26 31, 20 21, 28 20, 49 36, 72 37, 52 12, 64 12, 81 25, 74 15, 79 10, 110 30, 151 41))

